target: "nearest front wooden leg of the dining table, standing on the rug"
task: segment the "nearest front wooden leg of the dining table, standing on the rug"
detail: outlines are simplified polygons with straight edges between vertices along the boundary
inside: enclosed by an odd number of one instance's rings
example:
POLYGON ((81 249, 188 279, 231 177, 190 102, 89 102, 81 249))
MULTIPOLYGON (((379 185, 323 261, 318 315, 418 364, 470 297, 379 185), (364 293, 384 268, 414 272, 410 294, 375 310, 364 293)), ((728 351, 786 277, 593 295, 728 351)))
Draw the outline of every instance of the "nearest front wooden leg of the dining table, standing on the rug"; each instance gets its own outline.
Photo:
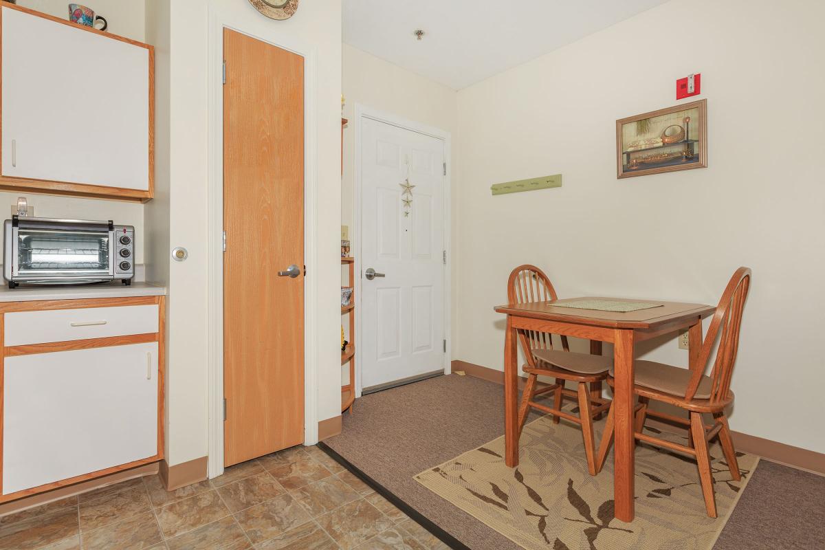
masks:
POLYGON ((633 345, 634 331, 626 329, 614 331, 613 497, 615 517, 622 521, 633 521, 634 518, 633 345))

